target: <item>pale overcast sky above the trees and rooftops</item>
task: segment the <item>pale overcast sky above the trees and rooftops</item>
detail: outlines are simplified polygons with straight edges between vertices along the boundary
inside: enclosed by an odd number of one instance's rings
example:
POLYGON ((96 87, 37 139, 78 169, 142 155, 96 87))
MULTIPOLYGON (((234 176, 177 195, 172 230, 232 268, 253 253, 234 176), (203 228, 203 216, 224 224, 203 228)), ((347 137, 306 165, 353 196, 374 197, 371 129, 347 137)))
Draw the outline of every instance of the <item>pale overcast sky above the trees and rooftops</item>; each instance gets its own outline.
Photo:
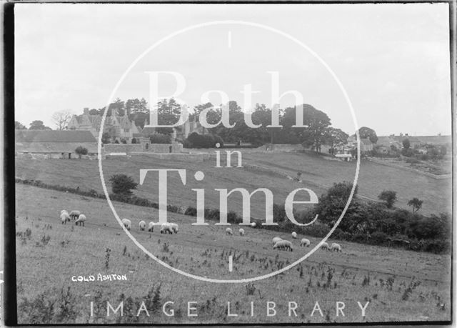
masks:
MULTIPOLYGON (((338 76, 358 126, 378 135, 451 134, 447 4, 16 4, 16 120, 39 119, 68 109, 101 108, 131 63, 146 49, 187 26, 246 21, 283 31, 306 44, 338 76)), ((145 71, 176 71, 189 106, 221 90, 243 104, 251 84, 253 104, 271 106, 271 74, 279 92, 296 90, 325 111, 333 126, 353 134, 354 123, 329 71, 291 39, 241 24, 186 31, 149 51, 121 83, 115 97, 149 101, 145 71)), ((159 80, 163 96, 176 82, 159 80)), ((210 96, 219 104, 216 94, 210 96)), ((281 107, 293 104, 284 96, 281 107)))

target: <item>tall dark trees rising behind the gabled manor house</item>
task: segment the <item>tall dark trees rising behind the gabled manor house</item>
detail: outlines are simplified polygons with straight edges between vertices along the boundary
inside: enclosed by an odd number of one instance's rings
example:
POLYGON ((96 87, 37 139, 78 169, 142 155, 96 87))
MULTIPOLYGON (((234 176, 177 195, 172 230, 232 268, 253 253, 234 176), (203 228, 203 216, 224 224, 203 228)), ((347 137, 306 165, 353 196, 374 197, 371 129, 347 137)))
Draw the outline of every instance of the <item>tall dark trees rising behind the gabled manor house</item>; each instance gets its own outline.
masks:
MULTIPOLYGON (((199 120, 199 114, 205 109, 209 110, 206 115, 209 124, 217 124, 221 120, 221 109, 215 109, 211 103, 199 104, 191 109, 189 119, 199 120)), ((144 127, 149 124, 149 106, 145 99, 128 99, 122 101, 116 99, 109 105, 107 116, 116 110, 119 115, 127 114, 137 126, 144 127)), ((90 109, 89 114, 104 114, 105 107, 90 109)), ((173 98, 164 99, 154 106, 159 114, 159 124, 176 124, 181 114, 181 105, 173 98)), ((246 124, 245 114, 236 101, 229 101, 229 122, 235 126, 227 128, 223 124, 209 129, 209 133, 215 138, 220 137, 227 143, 236 143, 240 140, 254 145, 272 142, 273 144, 303 144, 320 151, 321 144, 338 146, 344 144, 348 134, 331 126, 331 119, 323 111, 319 111, 309 104, 303 104, 303 125, 307 128, 292 128, 296 124, 295 107, 287 107, 279 110, 279 124, 282 128, 266 128, 271 124, 271 109, 265 104, 256 104, 252 110, 251 120, 253 124, 261 125, 252 128, 246 124)), ((170 128, 156 129, 161 134, 171 134, 170 128)))

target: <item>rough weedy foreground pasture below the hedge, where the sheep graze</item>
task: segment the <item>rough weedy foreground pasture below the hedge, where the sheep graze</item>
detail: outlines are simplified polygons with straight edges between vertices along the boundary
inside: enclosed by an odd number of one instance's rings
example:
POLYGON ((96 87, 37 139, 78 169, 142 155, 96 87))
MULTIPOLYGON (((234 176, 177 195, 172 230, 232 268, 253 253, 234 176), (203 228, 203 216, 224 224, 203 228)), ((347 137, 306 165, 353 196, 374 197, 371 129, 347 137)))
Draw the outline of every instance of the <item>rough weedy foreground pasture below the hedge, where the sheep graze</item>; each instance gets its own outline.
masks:
MULTIPOLYGON (((17 161, 16 176, 99 189, 93 161, 31 163, 17 161)), ((106 164, 110 173, 128 167, 121 159, 106 164)), ((144 163, 135 161, 138 167, 144 164, 146 159, 144 163)), ((201 164, 189 164, 188 169, 199 167, 201 164)), ((229 186, 239 181, 216 177, 216 172, 207 167, 202 170, 213 182, 218 179, 229 186)), ((135 170, 131 172, 134 175, 135 170)), ((259 177, 251 177, 255 178, 259 177)), ((236 179, 243 177, 236 175, 236 179)), ((241 185, 246 187, 249 183, 253 182, 247 180, 241 185)), ((279 183, 275 177, 266 182, 279 183)), ((142 188, 139 192, 146 194, 148 191, 142 188)), ((181 200, 186 196, 181 194, 181 200)), ((146 249, 173 267, 201 276, 255 277, 276 271, 309 251, 298 247, 298 241, 293 242, 293 252, 273 251, 271 239, 277 235, 273 232, 245 228, 244 237, 226 236, 225 227, 212 223, 208 227, 191 226, 194 217, 172 213, 169 221, 179 223, 179 234, 141 232, 138 222, 151 218, 156 221, 155 209, 116 202, 114 206, 121 217, 132 219, 131 234, 146 249), (233 272, 229 272, 230 256, 233 272)), ((15 221, 18 316, 22 324, 387 322, 451 318, 448 255, 341 242, 343 253, 319 250, 297 267, 269 279, 253 284, 211 284, 183 277, 146 257, 119 227, 103 199, 16 184, 15 221), (63 208, 84 211, 88 217, 86 226, 61 224, 59 212, 63 208), (72 276, 96 277, 99 273, 126 274, 127 280, 71 281, 72 276), (124 317, 106 317, 106 300, 114 308, 123 300, 124 317), (145 312, 136 317, 142 301, 151 317, 146 317, 145 312), (174 317, 161 312, 167 301, 174 302, 174 317), (344 317, 336 317, 337 301, 346 305, 344 317), (90 302, 94 302, 93 317, 89 316, 90 302), (187 316, 187 302, 197 302, 194 306, 198 317, 187 316), (238 317, 228 317, 227 302, 231 302, 231 313, 238 317), (266 315, 267 302, 276 303, 276 316, 266 315), (297 317, 293 313, 289 317, 288 302, 298 305, 297 317), (316 311, 311 317, 316 302, 322 315, 316 311), (366 317, 361 316, 357 302, 369 302, 366 317)), ((311 246, 318 242, 309 239, 311 246)))

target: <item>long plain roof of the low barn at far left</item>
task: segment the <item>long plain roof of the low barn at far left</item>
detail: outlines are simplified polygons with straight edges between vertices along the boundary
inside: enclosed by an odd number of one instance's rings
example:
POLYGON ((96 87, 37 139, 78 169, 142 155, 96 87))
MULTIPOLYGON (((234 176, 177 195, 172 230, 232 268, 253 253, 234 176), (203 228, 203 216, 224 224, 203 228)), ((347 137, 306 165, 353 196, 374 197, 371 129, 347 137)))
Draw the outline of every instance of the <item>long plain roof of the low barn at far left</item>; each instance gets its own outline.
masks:
POLYGON ((91 131, 15 130, 17 142, 96 142, 91 131))

